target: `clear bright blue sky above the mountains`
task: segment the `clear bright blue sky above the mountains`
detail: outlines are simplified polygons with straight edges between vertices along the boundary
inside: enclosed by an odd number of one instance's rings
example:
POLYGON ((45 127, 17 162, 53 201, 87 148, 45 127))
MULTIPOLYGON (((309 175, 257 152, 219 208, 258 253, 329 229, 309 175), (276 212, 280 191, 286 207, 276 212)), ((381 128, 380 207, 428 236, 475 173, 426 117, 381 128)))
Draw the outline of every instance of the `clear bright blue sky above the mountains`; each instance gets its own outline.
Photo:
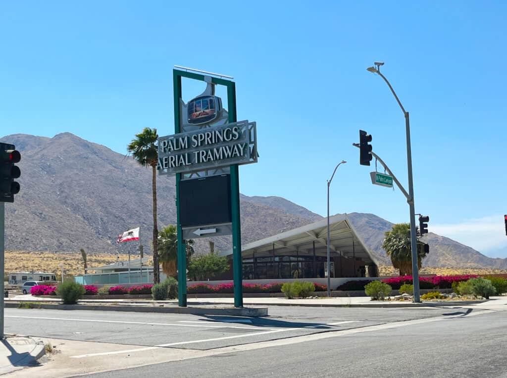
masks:
MULTIPOLYGON (((232 75, 238 119, 258 123, 241 192, 316 213, 409 220, 402 193, 372 185, 358 130, 407 184, 429 230, 507 257, 504 2, 23 2, 0 10, 0 136, 71 132, 119 153, 143 127, 174 131, 174 64, 232 75)), ((187 83, 184 96, 201 93, 187 83), (195 91, 195 93, 193 93, 195 91)), ((184 85, 185 82, 184 82, 184 85)), ((188 98, 187 98, 188 99, 188 98)), ((163 180, 163 177, 161 177, 163 180)))

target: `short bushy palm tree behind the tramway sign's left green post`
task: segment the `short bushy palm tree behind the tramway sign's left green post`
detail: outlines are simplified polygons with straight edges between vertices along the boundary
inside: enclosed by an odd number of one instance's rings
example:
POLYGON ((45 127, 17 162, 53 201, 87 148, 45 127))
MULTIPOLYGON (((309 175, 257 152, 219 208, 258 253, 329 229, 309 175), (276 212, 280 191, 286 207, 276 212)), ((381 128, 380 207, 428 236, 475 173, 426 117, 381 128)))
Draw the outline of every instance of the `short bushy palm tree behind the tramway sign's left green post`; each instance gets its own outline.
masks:
MULTIPOLYGON (((194 253, 194 240, 188 239, 185 247, 187 252, 187 265, 194 253)), ((158 251, 162 263, 162 271, 169 277, 176 277, 178 262, 178 234, 174 224, 164 227, 159 235, 158 251)))

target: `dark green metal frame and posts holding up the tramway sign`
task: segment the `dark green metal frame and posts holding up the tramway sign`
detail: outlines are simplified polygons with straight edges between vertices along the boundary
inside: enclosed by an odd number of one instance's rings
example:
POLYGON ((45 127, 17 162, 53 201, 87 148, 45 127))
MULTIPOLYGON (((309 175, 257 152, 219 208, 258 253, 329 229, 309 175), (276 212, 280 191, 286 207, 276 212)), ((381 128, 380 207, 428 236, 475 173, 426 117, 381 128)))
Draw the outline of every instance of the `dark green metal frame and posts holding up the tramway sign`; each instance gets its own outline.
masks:
MULTIPOLYGON (((198 80, 211 85, 222 85, 227 88, 227 111, 228 123, 237 122, 236 119, 236 84, 230 80, 207 76, 204 74, 173 69, 174 86, 174 133, 183 132, 182 120, 182 77, 198 80)), ((204 101, 204 100, 203 100, 204 101)), ((197 106, 197 105, 196 105, 197 106)), ((190 114, 190 111, 189 111, 190 114)), ((190 119, 190 118, 189 118, 190 119)), ((189 121, 190 122, 190 121, 189 121)), ((232 220, 232 244, 233 244, 233 279, 234 279, 234 306, 243 307, 242 286, 242 261, 241 261, 241 227, 239 212, 239 172, 238 164, 232 164, 230 169, 231 188, 231 220, 232 220)), ((176 222, 178 238, 178 305, 187 306, 187 261, 186 247, 183 240, 182 224, 180 223, 180 195, 179 185, 183 179, 183 173, 176 173, 176 222)))

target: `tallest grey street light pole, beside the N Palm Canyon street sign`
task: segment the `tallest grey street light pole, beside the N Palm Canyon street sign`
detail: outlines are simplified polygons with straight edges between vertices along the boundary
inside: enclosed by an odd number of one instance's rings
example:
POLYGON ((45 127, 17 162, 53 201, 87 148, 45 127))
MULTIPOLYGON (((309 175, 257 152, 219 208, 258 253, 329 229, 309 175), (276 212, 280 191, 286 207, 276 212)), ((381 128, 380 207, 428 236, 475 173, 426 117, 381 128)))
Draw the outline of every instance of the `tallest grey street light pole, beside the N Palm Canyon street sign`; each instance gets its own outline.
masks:
POLYGON ((414 205, 414 180, 412 176, 412 148, 410 143, 410 117, 409 112, 405 111, 400 99, 396 96, 394 89, 391 84, 387 81, 385 76, 380 72, 380 66, 384 65, 383 62, 375 62, 375 67, 368 67, 367 70, 373 73, 377 73, 386 84, 389 86, 394 98, 400 105, 403 115, 405 116, 405 130, 407 135, 407 166, 409 176, 409 199, 407 200, 410 207, 410 245, 412 249, 412 278, 414 282, 414 302, 420 303, 420 292, 419 292, 419 267, 418 267, 418 253, 417 253, 417 235, 415 226, 415 205, 414 205))

